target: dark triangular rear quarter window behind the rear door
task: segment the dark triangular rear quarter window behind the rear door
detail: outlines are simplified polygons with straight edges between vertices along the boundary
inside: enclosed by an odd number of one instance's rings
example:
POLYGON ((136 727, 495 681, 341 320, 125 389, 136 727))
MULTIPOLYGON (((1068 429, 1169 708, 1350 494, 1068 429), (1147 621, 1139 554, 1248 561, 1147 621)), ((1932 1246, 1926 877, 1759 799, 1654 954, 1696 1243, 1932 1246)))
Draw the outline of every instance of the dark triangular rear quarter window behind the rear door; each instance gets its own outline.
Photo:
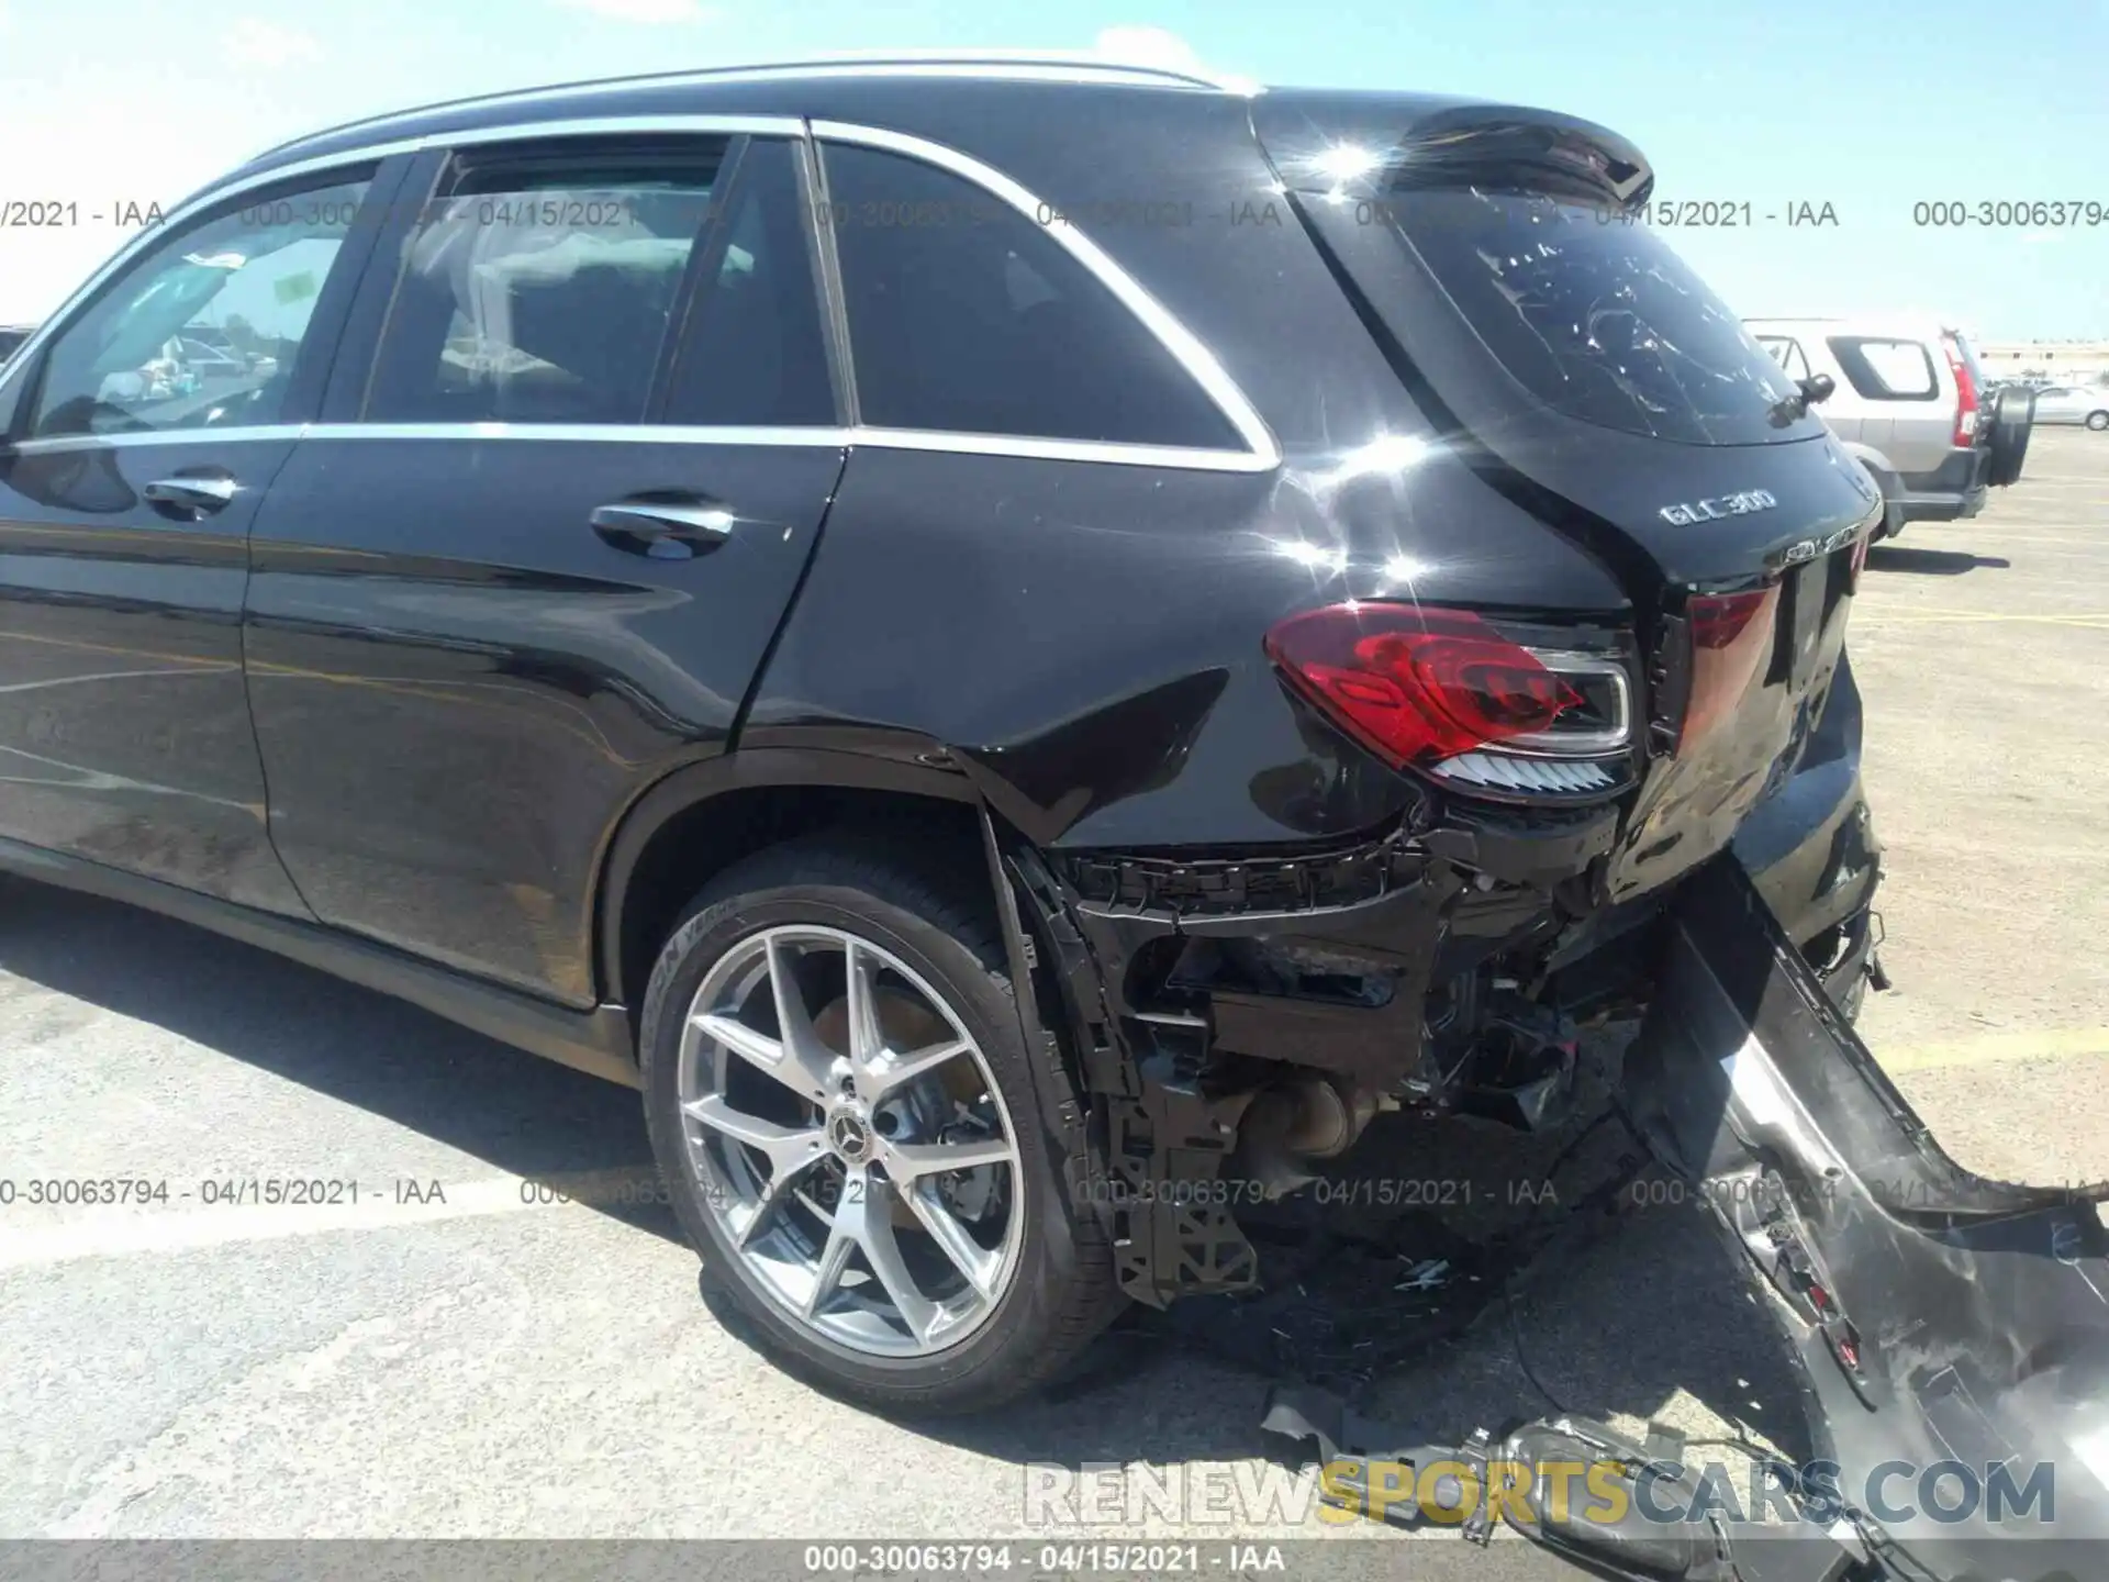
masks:
POLYGON ((1010 205, 833 143, 827 186, 863 422, 1244 449, 1158 337, 1010 205))

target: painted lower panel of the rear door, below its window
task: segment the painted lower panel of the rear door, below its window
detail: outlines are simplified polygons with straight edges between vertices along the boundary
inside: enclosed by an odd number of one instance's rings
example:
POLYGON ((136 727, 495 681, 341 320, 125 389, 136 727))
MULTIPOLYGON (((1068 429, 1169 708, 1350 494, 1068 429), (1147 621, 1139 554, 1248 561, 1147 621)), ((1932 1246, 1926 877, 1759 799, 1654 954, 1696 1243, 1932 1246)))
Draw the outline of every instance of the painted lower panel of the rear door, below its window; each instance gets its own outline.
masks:
POLYGON ((723 751, 841 451, 310 439, 257 523, 249 692, 272 837, 323 922, 591 1004, 616 821, 723 751), (626 553, 645 491, 738 521, 626 553))

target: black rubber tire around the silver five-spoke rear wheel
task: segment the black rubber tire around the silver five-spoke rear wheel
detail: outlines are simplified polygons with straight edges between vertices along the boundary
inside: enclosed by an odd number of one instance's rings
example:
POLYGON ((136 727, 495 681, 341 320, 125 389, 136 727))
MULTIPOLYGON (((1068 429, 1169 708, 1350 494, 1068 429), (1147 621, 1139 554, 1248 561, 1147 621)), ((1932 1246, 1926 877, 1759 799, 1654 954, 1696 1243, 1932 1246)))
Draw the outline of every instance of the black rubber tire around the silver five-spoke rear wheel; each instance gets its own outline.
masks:
MULTIPOLYGON (((704 1280, 732 1299, 753 1337, 787 1371, 829 1394, 901 1415, 987 1411, 1054 1377, 1124 1306, 1099 1219, 1063 1188, 1065 1143, 1042 1091, 1076 1101, 1065 1069, 1036 1072, 1019 1031, 1006 951, 970 882, 922 873, 854 837, 804 837, 757 852, 713 880, 660 951, 645 991, 639 1055, 652 1150, 704 1280), (869 939, 945 996, 981 1044, 1010 1114, 1023 1202, 1017 1272, 987 1320, 947 1350, 875 1356, 785 1312, 747 1272, 688 1160, 679 1112, 679 1044, 711 964, 780 924, 820 924, 869 939)), ((1082 1179, 1078 1173, 1076 1179, 1082 1179)))

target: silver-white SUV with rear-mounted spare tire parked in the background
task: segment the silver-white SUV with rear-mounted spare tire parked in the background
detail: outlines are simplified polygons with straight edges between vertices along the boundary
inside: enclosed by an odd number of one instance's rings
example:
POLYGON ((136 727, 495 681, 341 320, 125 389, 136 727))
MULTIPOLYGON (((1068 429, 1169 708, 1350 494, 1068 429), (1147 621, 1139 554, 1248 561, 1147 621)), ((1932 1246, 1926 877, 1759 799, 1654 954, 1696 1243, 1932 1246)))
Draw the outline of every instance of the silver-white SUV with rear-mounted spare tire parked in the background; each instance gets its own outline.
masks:
POLYGON ((1795 380, 1831 382, 1816 411, 1881 485, 1881 538, 1907 521, 1955 521, 2020 477, 2031 399, 1987 397, 1961 331, 1919 319, 1744 319, 1795 380))

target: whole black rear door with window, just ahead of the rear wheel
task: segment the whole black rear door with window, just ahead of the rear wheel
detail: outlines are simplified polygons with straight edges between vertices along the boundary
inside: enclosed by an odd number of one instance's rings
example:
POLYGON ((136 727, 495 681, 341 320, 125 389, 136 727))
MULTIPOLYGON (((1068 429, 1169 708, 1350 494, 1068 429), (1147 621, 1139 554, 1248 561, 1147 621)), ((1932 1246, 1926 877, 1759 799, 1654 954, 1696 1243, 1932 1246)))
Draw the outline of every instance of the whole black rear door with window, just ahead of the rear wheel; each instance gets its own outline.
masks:
POLYGON ((605 840, 728 745, 844 456, 797 127, 694 127, 424 156, 255 540, 316 915, 572 1004, 605 840))

